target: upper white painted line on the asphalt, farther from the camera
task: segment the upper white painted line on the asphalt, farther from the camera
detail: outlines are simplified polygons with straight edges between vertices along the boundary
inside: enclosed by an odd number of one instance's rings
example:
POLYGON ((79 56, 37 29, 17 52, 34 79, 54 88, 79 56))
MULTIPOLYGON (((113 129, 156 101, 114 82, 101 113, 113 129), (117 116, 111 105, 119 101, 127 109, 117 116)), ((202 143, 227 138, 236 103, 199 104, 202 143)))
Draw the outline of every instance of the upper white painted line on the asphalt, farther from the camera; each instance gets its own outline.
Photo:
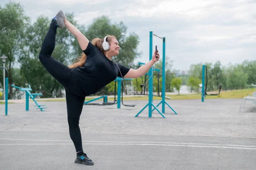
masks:
MULTIPOLYGON (((44 139, 12 139, 12 138, 0 138, 0 140, 11 140, 11 141, 67 141, 70 142, 71 140, 44 140, 44 139)), ((120 143, 120 144, 189 144, 189 145, 213 145, 213 146, 232 146, 232 147, 256 147, 256 146, 249 146, 249 145, 234 145, 234 144, 200 144, 200 143, 182 143, 182 142, 152 142, 152 141, 84 141, 84 142, 95 142, 95 143, 120 143)))

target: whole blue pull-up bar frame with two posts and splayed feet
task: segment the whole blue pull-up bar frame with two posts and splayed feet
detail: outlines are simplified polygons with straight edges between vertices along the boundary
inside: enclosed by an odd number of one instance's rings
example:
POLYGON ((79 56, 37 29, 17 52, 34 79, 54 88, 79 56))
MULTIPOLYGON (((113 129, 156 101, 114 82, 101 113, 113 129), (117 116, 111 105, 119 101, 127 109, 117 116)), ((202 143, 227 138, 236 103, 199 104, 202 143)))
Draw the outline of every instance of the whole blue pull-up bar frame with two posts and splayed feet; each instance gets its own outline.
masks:
MULTIPOLYGON (((153 32, 149 32, 149 61, 151 61, 152 59, 152 55, 153 55, 153 32)), ((137 113, 137 115, 135 115, 135 117, 137 117, 138 115, 140 115, 141 112, 143 112, 143 110, 148 107, 148 117, 151 118, 152 117, 152 111, 154 109, 157 110, 157 112, 159 112, 160 115, 163 116, 163 118, 165 118, 165 116, 163 115, 163 113, 165 113, 165 104, 167 104, 167 106, 170 107, 170 109, 172 109, 173 112, 175 112, 175 110, 165 101, 165 42, 166 39, 165 37, 159 37, 157 35, 154 35, 158 38, 163 39, 163 66, 162 66, 162 100, 160 101, 159 104, 157 104, 157 106, 155 106, 153 104, 153 78, 149 79, 149 84, 148 84, 148 104, 145 105, 145 107, 143 107, 143 109, 140 110, 140 112, 137 113), (157 108, 160 104, 162 104, 162 112, 160 112, 160 110, 157 108), (152 107, 154 107, 154 109, 152 110, 152 107)), ((153 69, 152 67, 149 69, 148 75, 152 75, 153 69)), ((177 112, 175 112, 175 114, 177 114, 177 112)))

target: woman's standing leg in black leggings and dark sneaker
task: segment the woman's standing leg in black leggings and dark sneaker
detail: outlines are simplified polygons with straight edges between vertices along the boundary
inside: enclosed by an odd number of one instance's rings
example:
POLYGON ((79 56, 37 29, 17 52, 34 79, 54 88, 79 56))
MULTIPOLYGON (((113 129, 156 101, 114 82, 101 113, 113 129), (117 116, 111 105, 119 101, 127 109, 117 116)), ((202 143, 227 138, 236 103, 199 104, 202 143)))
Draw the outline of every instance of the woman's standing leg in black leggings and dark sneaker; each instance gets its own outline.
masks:
POLYGON ((70 138, 76 148, 75 163, 93 165, 93 161, 83 151, 81 131, 79 128, 80 115, 84 106, 85 97, 73 95, 66 90, 67 121, 69 125, 70 138))

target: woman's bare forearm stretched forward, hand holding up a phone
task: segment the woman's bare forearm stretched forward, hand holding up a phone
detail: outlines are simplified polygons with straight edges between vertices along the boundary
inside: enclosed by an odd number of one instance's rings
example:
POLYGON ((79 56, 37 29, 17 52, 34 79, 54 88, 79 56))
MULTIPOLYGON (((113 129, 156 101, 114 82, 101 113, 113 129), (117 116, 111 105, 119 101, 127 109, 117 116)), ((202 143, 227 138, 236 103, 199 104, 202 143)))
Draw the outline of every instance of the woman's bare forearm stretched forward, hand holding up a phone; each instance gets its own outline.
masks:
POLYGON ((160 58, 159 53, 157 52, 157 58, 155 53, 156 52, 154 52, 151 61, 148 61, 148 63, 146 63, 138 69, 130 69, 128 73, 124 76, 124 78, 138 78, 145 75, 148 72, 148 70, 154 65, 154 63, 157 62, 160 58))

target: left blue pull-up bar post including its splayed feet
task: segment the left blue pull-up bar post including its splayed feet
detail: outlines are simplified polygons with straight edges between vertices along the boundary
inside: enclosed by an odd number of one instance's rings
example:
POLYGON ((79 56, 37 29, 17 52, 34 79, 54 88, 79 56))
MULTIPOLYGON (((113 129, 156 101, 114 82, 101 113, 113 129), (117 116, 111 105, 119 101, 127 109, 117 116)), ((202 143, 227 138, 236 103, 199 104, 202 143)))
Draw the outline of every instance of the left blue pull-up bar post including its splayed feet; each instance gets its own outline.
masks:
MULTIPOLYGON (((157 36, 158 37, 158 36, 157 36)), ((153 50, 153 32, 149 32, 149 61, 152 60, 152 50, 153 50)), ((152 67, 149 69, 148 75, 152 75, 152 67)), ((140 110, 140 112, 138 112, 137 115, 135 115, 135 117, 137 117, 138 115, 140 115, 141 112, 143 112, 143 110, 148 107, 148 117, 151 118, 152 117, 152 107, 154 107, 157 112, 159 112, 160 115, 163 116, 163 118, 165 118, 165 116, 163 115, 162 112, 160 112, 160 110, 153 104, 153 78, 151 77, 148 81, 148 104, 145 105, 145 107, 143 107, 143 109, 140 110)))

